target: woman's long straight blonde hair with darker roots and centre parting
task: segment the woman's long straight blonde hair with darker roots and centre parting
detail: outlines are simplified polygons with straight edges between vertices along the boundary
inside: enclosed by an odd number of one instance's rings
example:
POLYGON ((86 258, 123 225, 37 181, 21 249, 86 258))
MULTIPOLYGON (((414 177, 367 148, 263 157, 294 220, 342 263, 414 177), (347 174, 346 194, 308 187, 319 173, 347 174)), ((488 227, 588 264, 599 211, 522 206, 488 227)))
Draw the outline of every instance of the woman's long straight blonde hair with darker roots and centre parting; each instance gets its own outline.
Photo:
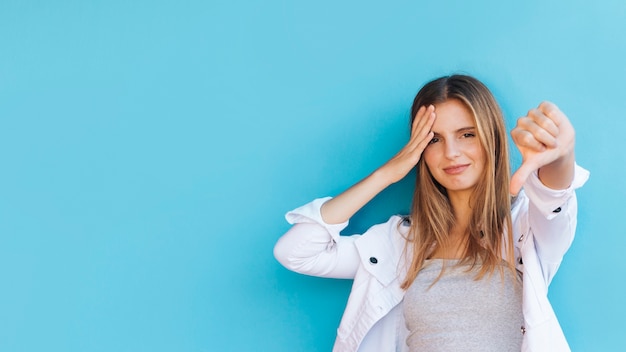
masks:
MULTIPOLYGON (((417 93, 411 108, 411 122, 421 106, 450 99, 457 99, 471 111, 485 151, 484 174, 470 199, 469 237, 461 262, 480 265, 477 278, 493 273, 497 267, 502 268, 500 264, 504 257, 508 259, 508 267, 514 270, 507 133, 502 111, 489 89, 470 76, 438 78, 417 93)), ((449 243, 449 234, 456 221, 446 189, 433 178, 423 158, 416 170, 411 227, 405 248, 406 252, 412 253, 412 259, 401 286, 403 289, 411 286, 424 260, 437 248, 449 243)))

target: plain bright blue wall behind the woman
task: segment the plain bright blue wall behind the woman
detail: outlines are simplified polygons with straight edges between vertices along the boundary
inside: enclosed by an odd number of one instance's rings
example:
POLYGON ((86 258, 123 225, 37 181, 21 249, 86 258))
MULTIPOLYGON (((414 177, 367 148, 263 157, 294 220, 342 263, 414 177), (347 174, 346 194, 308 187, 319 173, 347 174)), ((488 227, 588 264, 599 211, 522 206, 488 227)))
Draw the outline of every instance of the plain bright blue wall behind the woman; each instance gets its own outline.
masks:
POLYGON ((2 0, 0 351, 330 350, 350 282, 274 260, 283 214, 391 157, 455 72, 509 127, 548 99, 577 128, 550 297, 573 350, 625 349, 625 33, 621 0, 2 0))

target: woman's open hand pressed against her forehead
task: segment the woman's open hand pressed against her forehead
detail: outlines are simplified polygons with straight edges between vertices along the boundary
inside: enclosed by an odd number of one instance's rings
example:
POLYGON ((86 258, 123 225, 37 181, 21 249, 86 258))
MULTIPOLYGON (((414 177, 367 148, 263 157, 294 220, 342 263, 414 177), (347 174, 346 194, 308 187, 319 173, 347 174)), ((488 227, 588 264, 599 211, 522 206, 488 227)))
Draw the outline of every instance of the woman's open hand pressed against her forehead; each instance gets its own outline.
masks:
POLYGON ((420 161, 424 149, 433 138, 431 128, 435 122, 435 106, 422 106, 417 110, 411 126, 409 142, 378 170, 391 183, 403 179, 420 161))

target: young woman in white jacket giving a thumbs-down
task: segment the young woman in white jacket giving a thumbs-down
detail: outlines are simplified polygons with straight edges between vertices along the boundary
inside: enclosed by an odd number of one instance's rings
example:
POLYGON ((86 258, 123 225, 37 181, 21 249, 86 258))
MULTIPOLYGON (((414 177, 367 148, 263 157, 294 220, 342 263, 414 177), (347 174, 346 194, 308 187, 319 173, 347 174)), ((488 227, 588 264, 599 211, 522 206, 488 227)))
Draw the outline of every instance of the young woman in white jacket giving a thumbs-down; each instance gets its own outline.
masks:
POLYGON ((544 102, 511 132, 469 76, 427 83, 409 142, 335 198, 287 213, 274 249, 290 270, 354 284, 334 351, 569 351, 547 290, 576 228, 574 129, 544 102), (348 220, 416 168, 411 214, 362 235, 348 220), (523 190, 522 190, 523 187, 523 190))

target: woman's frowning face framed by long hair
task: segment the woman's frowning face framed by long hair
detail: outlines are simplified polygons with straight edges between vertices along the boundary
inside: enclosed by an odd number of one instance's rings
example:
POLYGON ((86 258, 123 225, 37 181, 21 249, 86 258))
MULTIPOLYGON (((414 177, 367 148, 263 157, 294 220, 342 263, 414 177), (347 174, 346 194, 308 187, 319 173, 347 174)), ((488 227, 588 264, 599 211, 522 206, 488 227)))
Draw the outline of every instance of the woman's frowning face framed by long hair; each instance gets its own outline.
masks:
POLYGON ((435 134, 423 157, 435 180, 454 193, 471 192, 483 175, 485 151, 471 111, 459 100, 435 105, 435 134))

